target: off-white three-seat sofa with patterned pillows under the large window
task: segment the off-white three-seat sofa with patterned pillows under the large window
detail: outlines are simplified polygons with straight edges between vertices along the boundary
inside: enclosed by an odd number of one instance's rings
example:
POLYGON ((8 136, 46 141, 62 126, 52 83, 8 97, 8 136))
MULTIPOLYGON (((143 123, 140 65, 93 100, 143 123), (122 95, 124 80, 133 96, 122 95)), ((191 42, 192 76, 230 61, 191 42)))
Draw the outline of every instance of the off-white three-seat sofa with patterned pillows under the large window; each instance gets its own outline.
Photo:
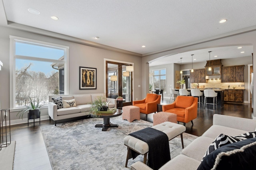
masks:
POLYGON ((106 98, 106 94, 103 93, 49 96, 48 114, 50 116, 50 119, 52 118, 54 120, 54 124, 56 126, 58 120, 90 115, 90 104, 99 96, 102 96, 105 99, 104 102, 109 102, 108 107, 116 107, 116 99, 106 98), (51 101, 52 98, 60 96, 62 97, 62 100, 75 99, 76 107, 57 109, 57 105, 52 103, 51 101))

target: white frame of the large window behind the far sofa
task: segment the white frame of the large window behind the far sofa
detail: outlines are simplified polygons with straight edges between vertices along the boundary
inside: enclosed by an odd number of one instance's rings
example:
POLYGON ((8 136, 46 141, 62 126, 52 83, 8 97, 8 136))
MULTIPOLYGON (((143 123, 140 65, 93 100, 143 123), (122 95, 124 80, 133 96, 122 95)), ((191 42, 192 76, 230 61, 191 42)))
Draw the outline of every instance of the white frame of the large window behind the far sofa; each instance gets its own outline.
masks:
POLYGON ((38 41, 34 39, 27 39, 23 37, 16 37, 10 35, 10 109, 20 109, 20 107, 16 107, 15 104, 15 94, 16 94, 16 77, 15 77, 15 60, 16 59, 28 59, 28 60, 35 60, 35 61, 47 61, 47 62, 52 62, 55 63, 58 61, 58 63, 63 63, 64 64, 64 76, 65 76, 65 81, 64 81, 64 94, 69 93, 69 87, 68 87, 68 54, 69 54, 69 47, 64 46, 64 45, 58 45, 54 43, 48 43, 44 41, 38 41), (15 43, 20 42, 20 43, 27 43, 27 44, 32 44, 32 45, 38 45, 42 47, 50 47, 50 48, 55 48, 55 49, 62 49, 64 50, 64 60, 55 60, 55 59, 44 59, 44 58, 38 58, 38 57, 29 57, 29 56, 22 56, 22 55, 15 55, 15 43))

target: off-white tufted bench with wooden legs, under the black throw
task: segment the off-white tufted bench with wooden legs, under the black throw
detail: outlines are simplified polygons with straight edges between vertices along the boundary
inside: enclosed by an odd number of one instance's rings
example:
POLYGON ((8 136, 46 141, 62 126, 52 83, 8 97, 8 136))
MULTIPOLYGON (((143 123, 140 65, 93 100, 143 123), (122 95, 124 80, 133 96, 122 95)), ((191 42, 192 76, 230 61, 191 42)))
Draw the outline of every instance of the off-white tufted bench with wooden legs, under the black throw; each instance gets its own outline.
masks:
MULTIPOLYGON (((159 125, 152 126, 152 128, 164 132, 168 136, 169 141, 172 140, 173 138, 177 137, 178 135, 180 135, 182 149, 184 148, 182 133, 184 131, 186 131, 185 126, 166 121, 159 125)), ((135 137, 128 135, 124 138, 124 145, 127 146, 127 148, 128 148, 125 167, 127 167, 128 160, 130 158, 132 158, 131 150, 134 150, 135 152, 138 152, 139 154, 144 155, 143 162, 144 162, 144 164, 146 164, 146 158, 147 158, 148 149, 149 149, 148 144, 146 142, 141 141, 140 139, 137 139, 135 137)))

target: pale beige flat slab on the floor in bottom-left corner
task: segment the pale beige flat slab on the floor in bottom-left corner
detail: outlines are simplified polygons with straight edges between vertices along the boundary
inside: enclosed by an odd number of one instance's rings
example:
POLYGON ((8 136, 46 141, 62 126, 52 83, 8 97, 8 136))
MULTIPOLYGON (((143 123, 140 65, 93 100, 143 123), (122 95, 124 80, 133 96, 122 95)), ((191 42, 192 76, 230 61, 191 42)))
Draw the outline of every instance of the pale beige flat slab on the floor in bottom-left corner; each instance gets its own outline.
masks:
POLYGON ((2 150, 0 150, 0 169, 13 169, 15 146, 16 141, 11 141, 10 145, 8 145, 7 147, 2 147, 2 150))

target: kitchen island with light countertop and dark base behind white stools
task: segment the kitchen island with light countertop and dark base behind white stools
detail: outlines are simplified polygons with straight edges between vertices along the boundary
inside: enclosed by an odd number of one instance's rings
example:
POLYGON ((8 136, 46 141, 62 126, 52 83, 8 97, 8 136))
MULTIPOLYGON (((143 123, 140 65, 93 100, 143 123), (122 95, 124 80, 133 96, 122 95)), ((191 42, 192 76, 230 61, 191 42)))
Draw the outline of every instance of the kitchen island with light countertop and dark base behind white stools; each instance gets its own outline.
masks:
MULTIPOLYGON (((201 92, 204 92, 204 90, 206 89, 212 89, 214 90, 214 92, 216 92, 218 95, 217 95, 217 108, 222 108, 224 107, 224 89, 220 89, 220 88, 198 88, 198 90, 200 90, 201 92)), ((176 91, 179 91, 179 89, 174 89, 176 91)), ((189 92, 191 91, 190 88, 186 89, 188 90, 189 92)), ((203 96, 203 99, 204 99, 204 96, 203 96)), ((204 101, 204 100, 203 100, 204 101)), ((208 98, 207 99, 207 103, 213 103, 213 98, 208 98)), ((206 107, 213 107, 213 105, 207 105, 206 107)))

